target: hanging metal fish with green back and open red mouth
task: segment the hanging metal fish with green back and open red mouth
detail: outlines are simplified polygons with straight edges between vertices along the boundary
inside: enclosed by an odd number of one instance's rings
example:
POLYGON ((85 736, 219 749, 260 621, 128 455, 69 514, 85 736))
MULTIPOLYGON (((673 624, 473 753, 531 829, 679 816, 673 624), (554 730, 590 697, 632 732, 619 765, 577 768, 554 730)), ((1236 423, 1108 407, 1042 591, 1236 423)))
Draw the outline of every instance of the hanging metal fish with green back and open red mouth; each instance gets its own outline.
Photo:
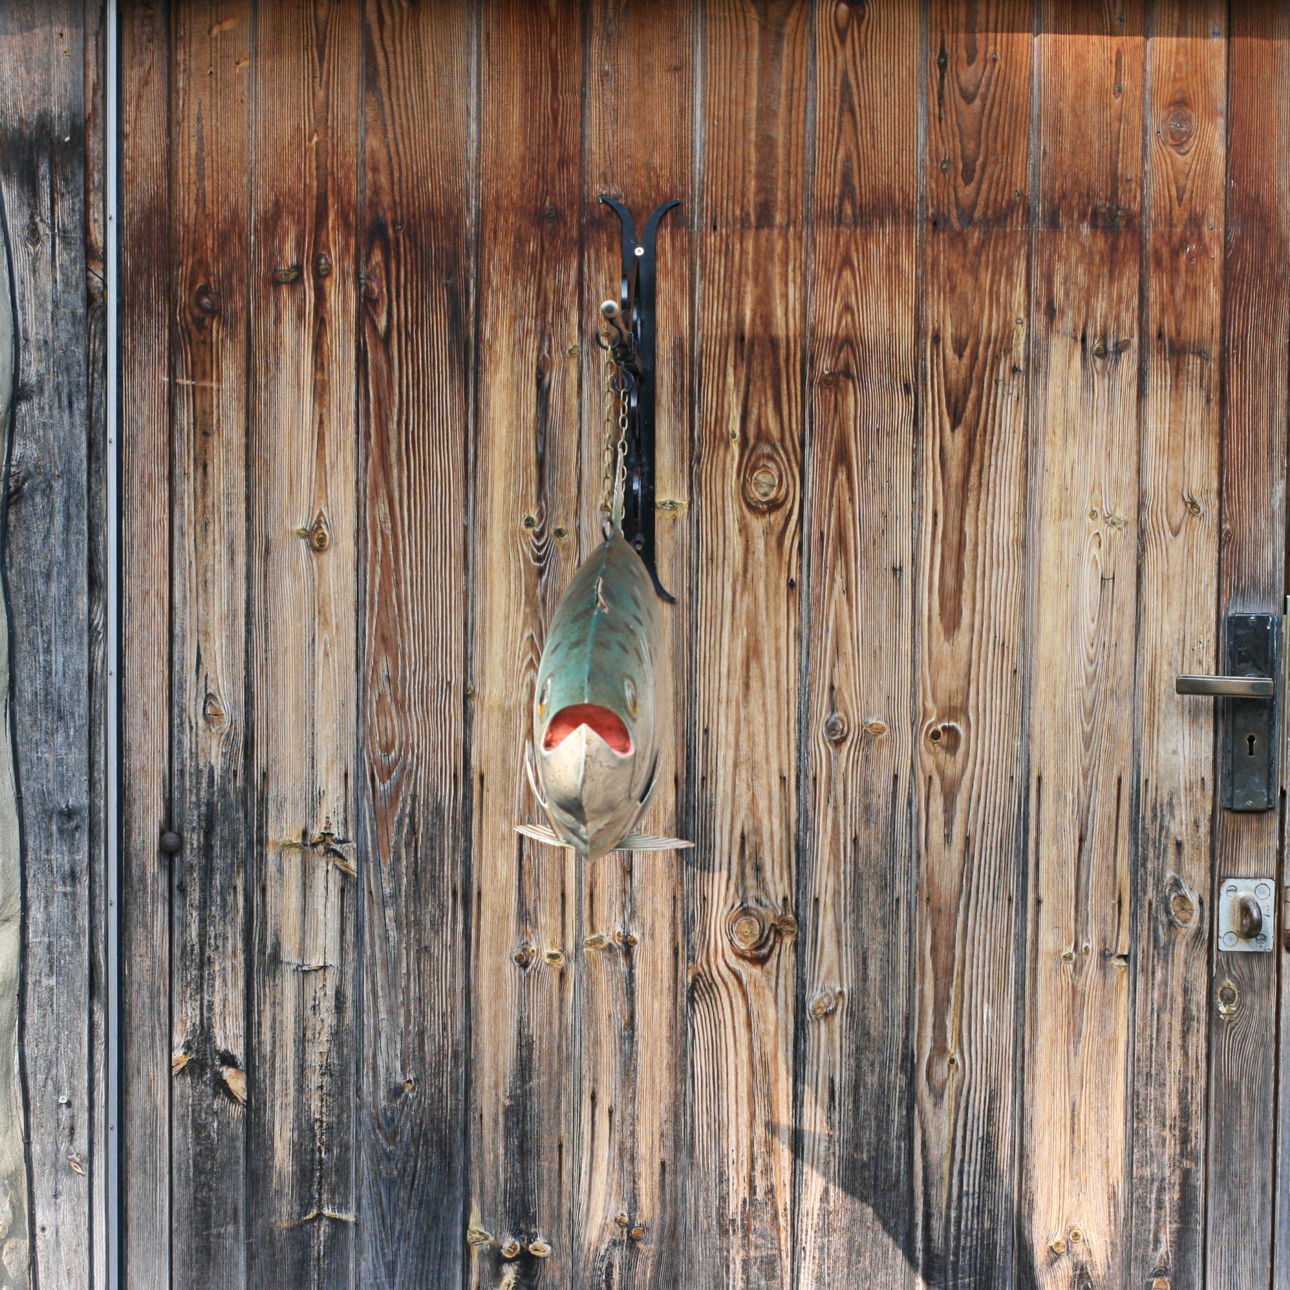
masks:
POLYGON ((519 832, 590 859, 691 845, 632 833, 658 782, 659 637, 649 573, 615 526, 574 574, 551 620, 529 779, 552 828, 521 824, 519 832))

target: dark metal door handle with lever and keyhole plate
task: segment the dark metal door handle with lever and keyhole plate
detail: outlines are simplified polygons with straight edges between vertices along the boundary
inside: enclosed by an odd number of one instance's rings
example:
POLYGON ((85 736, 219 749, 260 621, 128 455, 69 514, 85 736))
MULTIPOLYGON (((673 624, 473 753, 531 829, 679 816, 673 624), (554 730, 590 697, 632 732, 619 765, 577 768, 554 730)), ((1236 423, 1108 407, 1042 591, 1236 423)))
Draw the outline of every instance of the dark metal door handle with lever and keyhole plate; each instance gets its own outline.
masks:
POLYGON ((1227 676, 1179 676, 1179 694, 1224 700, 1223 805, 1275 810, 1281 793, 1281 618, 1228 614, 1223 641, 1227 676))

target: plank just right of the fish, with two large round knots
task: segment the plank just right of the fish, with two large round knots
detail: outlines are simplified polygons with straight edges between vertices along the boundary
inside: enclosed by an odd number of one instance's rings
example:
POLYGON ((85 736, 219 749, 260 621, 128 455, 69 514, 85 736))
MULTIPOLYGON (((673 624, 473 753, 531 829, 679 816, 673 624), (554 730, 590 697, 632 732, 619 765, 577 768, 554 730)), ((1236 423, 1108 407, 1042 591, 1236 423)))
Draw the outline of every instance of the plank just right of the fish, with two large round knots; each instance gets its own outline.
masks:
POLYGON ((715 0, 699 40, 686 891, 695 1290, 792 1284, 809 5, 715 0))

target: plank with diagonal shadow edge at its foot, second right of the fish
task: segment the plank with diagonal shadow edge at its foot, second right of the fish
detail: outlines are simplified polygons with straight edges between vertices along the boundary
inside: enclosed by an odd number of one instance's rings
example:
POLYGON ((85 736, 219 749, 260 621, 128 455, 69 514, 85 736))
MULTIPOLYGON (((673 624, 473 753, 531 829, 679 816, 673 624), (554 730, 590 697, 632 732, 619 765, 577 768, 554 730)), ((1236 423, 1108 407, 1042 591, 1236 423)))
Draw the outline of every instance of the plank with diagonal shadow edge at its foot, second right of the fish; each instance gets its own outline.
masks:
POLYGON ((917 5, 820 5, 808 326, 810 654, 799 1285, 913 1284, 917 5))

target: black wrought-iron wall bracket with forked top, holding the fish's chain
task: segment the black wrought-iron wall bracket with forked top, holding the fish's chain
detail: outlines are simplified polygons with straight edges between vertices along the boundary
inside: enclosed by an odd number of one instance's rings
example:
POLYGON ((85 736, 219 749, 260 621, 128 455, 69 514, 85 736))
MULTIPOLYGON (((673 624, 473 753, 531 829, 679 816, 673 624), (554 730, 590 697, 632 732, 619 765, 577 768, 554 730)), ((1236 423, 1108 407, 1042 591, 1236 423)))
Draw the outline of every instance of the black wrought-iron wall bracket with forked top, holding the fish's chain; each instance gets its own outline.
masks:
POLYGON ((654 547, 654 390, 655 338, 654 292, 658 284, 658 226, 681 203, 673 197, 655 208, 636 240, 632 213, 613 197, 601 196, 611 206, 622 227, 623 280, 619 289, 619 316, 611 319, 620 343, 611 346, 627 374, 627 484, 623 497, 623 537, 645 562, 654 590, 663 600, 676 597, 658 580, 654 547))

